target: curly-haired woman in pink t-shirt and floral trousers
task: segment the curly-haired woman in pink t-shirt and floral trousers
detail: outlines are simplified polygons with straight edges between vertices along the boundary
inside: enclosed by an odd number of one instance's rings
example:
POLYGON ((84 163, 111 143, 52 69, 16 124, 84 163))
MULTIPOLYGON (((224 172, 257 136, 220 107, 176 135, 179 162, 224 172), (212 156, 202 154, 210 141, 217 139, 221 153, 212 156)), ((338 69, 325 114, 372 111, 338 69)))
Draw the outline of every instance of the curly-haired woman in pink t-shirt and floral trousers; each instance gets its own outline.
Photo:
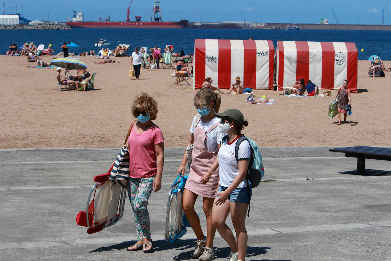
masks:
POLYGON ((158 113, 158 103, 145 93, 133 101, 132 115, 138 121, 127 140, 129 148, 130 180, 127 187, 129 200, 135 215, 138 241, 128 251, 153 252, 149 229, 148 199, 152 190, 161 188, 163 172, 164 139, 160 128, 152 122, 158 113))

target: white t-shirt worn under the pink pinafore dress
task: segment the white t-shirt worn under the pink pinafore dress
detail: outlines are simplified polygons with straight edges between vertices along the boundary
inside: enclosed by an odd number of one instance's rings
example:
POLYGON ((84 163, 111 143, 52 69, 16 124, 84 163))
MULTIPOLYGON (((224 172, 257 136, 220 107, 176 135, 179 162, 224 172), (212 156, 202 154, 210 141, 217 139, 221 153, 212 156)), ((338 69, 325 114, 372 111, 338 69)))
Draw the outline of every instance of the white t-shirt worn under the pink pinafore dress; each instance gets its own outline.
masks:
MULTIPOLYGON (((193 118, 192 126, 190 127, 190 132, 193 134, 194 134, 194 126, 195 126, 196 119, 197 119, 197 115, 195 115, 195 117, 193 118)), ((211 121, 208 122, 202 122, 202 120, 200 120, 197 126, 203 129, 204 131, 208 131, 209 128, 215 125, 217 122, 220 122, 220 118, 214 117, 211 121)), ((215 153, 217 149, 219 149, 217 145, 221 142, 222 137, 225 136, 225 133, 220 133, 219 131, 220 131, 220 127, 217 126, 210 133, 206 135, 207 137, 206 137, 205 148, 209 153, 215 153)))

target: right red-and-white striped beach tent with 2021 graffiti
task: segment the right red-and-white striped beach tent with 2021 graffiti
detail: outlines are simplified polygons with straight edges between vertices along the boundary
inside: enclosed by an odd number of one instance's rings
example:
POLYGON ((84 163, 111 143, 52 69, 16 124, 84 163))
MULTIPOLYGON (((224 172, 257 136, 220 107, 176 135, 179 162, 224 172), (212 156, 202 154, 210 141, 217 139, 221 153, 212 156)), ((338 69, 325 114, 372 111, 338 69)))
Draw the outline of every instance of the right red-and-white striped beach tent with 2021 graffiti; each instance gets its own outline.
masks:
POLYGON ((358 52, 354 43, 277 41, 276 81, 278 90, 300 79, 311 80, 319 89, 342 87, 348 80, 357 92, 358 52))

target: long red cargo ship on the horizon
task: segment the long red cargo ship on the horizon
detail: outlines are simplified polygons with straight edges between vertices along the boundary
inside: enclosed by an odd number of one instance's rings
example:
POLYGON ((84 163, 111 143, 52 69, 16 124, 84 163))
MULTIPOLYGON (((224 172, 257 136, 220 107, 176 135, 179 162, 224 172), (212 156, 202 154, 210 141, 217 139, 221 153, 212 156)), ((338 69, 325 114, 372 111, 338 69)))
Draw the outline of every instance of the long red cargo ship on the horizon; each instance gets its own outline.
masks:
POLYGON ((162 22, 161 13, 160 13, 160 1, 155 0, 153 7, 153 21, 152 18, 150 21, 141 21, 141 16, 135 16, 136 21, 132 22, 129 19, 130 8, 127 7, 127 18, 124 22, 113 22, 110 21, 110 16, 106 20, 102 21, 102 18, 99 18, 99 21, 84 22, 84 13, 81 11, 76 14, 74 11, 72 22, 66 22, 71 28, 187 28, 189 20, 180 20, 179 22, 162 22))

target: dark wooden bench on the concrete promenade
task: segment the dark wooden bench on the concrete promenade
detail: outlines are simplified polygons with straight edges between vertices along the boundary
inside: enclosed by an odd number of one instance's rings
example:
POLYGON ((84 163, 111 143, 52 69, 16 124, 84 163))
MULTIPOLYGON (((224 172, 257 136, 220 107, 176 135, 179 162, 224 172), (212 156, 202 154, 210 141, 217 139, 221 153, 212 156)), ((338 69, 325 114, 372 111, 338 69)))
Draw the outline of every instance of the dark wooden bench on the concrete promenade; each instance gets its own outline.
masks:
POLYGON ((370 158, 373 160, 391 160, 391 149, 368 147, 368 146, 355 146, 346 148, 334 148, 328 151, 343 152, 346 157, 357 158, 357 174, 365 174, 365 159, 370 158))

